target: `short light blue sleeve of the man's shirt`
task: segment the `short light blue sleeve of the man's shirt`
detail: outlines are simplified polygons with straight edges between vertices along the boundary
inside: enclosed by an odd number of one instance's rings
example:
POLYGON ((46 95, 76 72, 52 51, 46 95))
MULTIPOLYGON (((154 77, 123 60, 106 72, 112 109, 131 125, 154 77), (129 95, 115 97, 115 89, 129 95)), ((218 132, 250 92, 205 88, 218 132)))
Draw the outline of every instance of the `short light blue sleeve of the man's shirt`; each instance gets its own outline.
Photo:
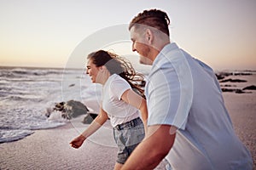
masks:
POLYGON ((167 61, 154 68, 148 80, 148 126, 167 124, 184 129, 193 98, 187 60, 180 57, 167 61))

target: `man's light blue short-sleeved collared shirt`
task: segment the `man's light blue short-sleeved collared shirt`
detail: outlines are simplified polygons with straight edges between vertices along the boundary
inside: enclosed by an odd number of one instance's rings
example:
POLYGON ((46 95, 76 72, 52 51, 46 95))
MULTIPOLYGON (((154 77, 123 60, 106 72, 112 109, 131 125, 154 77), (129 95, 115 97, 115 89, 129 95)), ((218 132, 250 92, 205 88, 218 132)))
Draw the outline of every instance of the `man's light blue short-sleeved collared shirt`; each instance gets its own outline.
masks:
POLYGON ((253 168, 209 66, 170 43, 154 60, 145 90, 148 126, 178 128, 166 156, 173 169, 253 168))

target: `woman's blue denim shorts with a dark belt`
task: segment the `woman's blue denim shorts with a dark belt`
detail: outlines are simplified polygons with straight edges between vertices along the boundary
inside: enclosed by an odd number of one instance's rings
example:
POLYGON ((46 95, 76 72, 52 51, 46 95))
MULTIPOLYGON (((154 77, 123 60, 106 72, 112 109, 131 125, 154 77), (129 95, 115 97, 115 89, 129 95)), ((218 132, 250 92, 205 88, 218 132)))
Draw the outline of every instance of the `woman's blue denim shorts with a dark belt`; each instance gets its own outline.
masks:
POLYGON ((144 136, 143 121, 139 117, 113 127, 113 137, 119 149, 117 162, 125 164, 131 152, 144 139, 144 136))

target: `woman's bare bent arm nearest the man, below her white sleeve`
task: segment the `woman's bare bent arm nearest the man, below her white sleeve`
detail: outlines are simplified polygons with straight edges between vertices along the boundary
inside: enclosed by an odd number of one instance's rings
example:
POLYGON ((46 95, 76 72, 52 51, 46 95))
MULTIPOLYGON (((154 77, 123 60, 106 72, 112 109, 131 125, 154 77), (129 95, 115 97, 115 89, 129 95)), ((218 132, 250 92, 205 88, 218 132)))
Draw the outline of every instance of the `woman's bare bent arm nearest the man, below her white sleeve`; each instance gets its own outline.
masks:
POLYGON ((145 127, 145 133, 147 133, 147 120, 148 120, 148 109, 146 100, 142 96, 135 93, 132 89, 128 89, 122 94, 121 99, 123 99, 129 105, 132 105, 139 109, 142 114, 143 124, 145 127))

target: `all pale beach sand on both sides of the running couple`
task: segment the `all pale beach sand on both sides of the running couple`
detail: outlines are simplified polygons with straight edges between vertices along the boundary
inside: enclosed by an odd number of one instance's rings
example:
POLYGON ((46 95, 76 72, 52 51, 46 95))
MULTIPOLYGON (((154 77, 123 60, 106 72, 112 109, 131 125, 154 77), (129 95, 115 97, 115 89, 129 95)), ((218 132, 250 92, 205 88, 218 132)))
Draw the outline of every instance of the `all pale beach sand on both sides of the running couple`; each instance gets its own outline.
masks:
MULTIPOLYGON (((250 80, 240 84, 241 87, 256 84, 255 76, 241 78, 250 80)), ((256 169, 256 92, 248 92, 251 93, 224 93, 224 101, 236 134, 250 150, 253 169, 256 169)), ((63 127, 37 130, 25 139, 0 144, 0 169, 113 169, 117 148, 108 123, 75 150, 69 142, 83 128, 84 125, 76 125, 76 122, 67 123, 63 127)), ((165 162, 161 162, 156 169, 164 167, 165 162)))

